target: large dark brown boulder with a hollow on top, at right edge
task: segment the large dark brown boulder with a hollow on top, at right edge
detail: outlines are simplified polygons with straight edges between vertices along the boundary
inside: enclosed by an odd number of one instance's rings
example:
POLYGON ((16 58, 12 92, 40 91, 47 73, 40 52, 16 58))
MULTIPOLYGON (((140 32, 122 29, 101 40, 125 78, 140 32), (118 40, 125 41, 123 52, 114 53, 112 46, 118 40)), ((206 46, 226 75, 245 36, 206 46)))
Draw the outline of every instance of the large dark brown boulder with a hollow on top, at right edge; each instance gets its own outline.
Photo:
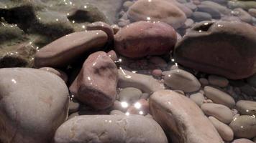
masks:
POLYGON ((252 66, 256 64, 255 31, 250 24, 236 21, 198 23, 176 44, 175 59, 183 66, 228 79, 250 77, 256 72, 252 66))

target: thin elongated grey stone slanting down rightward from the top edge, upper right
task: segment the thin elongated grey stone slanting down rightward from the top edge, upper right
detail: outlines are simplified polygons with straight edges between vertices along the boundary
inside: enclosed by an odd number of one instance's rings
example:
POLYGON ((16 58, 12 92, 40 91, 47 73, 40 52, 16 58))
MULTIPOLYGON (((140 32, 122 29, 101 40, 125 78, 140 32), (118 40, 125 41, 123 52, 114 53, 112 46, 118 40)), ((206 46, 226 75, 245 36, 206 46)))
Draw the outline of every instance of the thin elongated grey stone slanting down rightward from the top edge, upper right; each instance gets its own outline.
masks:
POLYGON ((231 14, 230 9, 227 9, 226 6, 222 6, 221 4, 218 4, 214 1, 202 1, 201 4, 206 5, 206 6, 210 6, 211 8, 216 9, 217 11, 219 11, 221 14, 224 14, 224 15, 231 14))

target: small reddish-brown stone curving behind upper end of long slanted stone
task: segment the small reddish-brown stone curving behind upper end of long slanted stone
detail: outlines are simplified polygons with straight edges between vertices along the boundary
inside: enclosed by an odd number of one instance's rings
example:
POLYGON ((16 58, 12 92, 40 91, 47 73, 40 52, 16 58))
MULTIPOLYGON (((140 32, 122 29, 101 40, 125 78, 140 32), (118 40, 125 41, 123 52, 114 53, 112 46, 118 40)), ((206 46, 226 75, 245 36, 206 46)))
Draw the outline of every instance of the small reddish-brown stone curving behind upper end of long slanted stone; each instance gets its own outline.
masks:
POLYGON ((86 30, 93 31, 93 30, 101 30, 104 31, 108 35, 109 43, 113 42, 114 40, 114 30, 109 24, 105 22, 93 22, 91 24, 86 25, 86 30))

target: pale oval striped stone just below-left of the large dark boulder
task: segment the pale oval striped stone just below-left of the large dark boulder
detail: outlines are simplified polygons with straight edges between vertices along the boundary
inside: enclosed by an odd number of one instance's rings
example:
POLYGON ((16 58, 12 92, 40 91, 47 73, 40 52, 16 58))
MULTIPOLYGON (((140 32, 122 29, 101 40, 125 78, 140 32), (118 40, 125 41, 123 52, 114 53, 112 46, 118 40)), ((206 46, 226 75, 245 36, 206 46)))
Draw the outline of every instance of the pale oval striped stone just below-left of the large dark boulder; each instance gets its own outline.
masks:
POLYGON ((201 88, 198 79, 182 69, 168 71, 168 74, 165 74, 164 82, 171 89, 179 89, 183 92, 196 92, 201 88))

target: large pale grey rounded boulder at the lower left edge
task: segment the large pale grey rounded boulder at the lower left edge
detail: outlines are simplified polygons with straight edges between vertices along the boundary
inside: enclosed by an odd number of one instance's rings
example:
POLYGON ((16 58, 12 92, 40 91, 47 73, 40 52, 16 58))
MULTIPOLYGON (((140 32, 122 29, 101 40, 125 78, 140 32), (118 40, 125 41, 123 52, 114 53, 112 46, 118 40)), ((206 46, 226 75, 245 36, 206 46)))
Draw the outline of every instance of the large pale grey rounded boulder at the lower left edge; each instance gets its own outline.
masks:
POLYGON ((1 142, 50 142, 68 113, 60 77, 27 68, 0 69, 1 142))

